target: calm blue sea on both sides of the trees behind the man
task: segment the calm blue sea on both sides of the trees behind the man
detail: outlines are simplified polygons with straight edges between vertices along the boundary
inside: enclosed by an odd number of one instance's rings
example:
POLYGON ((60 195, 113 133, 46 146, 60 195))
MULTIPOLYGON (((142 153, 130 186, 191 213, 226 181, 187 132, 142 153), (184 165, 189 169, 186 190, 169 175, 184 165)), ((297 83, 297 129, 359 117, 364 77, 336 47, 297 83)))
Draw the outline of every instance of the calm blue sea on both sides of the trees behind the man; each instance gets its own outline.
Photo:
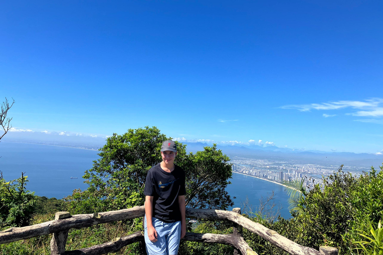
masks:
MULTIPOLYGON (((74 189, 87 188, 82 176, 92 167, 93 160, 99 158, 97 153, 96 150, 73 147, 1 141, 0 171, 7 181, 19 178, 21 172, 25 172, 29 180, 27 190, 37 196, 61 199, 71 195, 74 189)), ((233 173, 230 181, 226 190, 233 198, 233 207, 243 208, 246 204, 245 211, 255 212, 260 199, 267 199, 274 191, 274 212, 281 207, 281 216, 291 218, 283 186, 238 173, 233 173)))

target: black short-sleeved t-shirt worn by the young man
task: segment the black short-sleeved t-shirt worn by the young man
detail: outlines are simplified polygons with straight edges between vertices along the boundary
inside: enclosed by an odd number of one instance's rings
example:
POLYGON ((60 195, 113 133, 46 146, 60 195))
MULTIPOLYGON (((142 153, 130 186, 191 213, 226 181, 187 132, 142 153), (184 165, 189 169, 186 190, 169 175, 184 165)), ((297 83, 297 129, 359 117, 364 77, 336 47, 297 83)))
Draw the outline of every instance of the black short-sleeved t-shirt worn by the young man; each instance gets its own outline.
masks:
POLYGON ((185 193, 185 172, 181 167, 175 165, 168 173, 157 164, 148 171, 144 195, 153 196, 152 217, 167 223, 181 221, 178 196, 185 193))

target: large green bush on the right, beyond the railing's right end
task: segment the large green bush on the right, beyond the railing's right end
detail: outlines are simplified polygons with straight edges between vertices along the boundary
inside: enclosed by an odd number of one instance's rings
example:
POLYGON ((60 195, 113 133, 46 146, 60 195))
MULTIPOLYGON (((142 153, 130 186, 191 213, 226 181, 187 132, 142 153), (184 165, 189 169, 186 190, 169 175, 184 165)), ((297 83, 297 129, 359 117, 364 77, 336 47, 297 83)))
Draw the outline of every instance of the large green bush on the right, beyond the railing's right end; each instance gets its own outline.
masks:
POLYGON ((362 242, 361 233, 374 238, 369 226, 383 219, 383 171, 377 173, 372 167, 368 173, 353 176, 342 167, 300 196, 287 238, 315 249, 337 247, 340 255, 359 251, 355 249, 362 242))

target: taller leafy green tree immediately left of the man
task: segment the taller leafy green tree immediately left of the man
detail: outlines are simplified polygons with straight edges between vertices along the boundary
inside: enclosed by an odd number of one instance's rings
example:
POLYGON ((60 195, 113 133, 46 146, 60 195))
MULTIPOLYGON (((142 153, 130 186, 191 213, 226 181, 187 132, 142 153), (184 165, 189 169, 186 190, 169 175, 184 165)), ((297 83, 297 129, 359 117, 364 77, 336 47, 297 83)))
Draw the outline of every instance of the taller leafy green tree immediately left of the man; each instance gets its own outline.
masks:
POLYGON ((161 161, 161 144, 167 137, 156 127, 116 133, 100 149, 100 158, 83 176, 85 192, 75 190, 67 198, 69 209, 82 213, 119 210, 144 204, 148 170, 161 161), (93 207, 94 205, 94 207, 93 207))

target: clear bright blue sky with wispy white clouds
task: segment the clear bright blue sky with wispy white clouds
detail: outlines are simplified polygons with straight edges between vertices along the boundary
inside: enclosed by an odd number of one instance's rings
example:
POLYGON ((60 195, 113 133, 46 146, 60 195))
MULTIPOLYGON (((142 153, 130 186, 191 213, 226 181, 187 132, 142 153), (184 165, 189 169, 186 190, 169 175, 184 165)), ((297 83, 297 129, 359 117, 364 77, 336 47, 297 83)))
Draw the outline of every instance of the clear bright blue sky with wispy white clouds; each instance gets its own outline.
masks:
POLYGON ((0 9, 0 97, 15 100, 13 133, 156 126, 182 141, 383 153, 383 1, 0 9))

